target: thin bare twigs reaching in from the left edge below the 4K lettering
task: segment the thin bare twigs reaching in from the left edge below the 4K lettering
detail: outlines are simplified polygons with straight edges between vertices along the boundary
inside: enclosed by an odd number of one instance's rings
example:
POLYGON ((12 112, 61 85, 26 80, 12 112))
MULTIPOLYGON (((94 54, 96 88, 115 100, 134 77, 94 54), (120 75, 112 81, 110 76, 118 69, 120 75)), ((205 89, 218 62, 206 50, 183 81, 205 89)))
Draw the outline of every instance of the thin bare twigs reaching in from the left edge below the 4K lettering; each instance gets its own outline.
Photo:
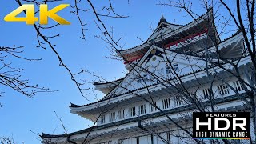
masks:
MULTIPOLYGON (((50 92, 48 88, 39 87, 38 85, 30 84, 28 79, 22 78, 22 68, 15 67, 10 59, 18 58, 24 61, 38 61, 40 59, 32 59, 22 57, 22 46, 3 46, 0 47, 0 84, 10 87, 27 97, 33 97, 38 92, 50 92)), ((1 91, 0 96, 4 93, 1 91)), ((1 104, 0 104, 1 105, 1 104)))

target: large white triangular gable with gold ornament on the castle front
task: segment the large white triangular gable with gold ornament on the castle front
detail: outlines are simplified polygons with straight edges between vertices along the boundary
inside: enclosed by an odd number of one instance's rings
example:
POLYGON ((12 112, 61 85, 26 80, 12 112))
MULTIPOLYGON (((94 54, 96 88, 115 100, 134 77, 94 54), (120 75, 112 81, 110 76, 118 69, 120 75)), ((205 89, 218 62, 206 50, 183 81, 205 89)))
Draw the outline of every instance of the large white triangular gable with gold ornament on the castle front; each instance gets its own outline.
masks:
POLYGON ((133 70, 107 96, 124 94, 133 90, 164 82, 166 79, 177 78, 193 71, 203 70, 206 62, 202 58, 186 54, 178 54, 151 46, 143 58, 133 64, 133 70))

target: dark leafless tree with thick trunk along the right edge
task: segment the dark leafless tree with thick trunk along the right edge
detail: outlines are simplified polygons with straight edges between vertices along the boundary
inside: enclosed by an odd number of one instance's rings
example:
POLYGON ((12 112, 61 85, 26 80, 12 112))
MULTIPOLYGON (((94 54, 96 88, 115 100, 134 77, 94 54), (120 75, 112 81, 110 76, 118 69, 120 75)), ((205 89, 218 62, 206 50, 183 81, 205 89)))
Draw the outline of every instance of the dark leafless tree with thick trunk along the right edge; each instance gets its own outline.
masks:
MULTIPOLYGON (((214 20, 216 23, 216 26, 218 26, 218 30, 220 30, 219 34, 226 34, 230 33, 230 31, 238 30, 242 32, 242 36, 244 38, 245 43, 245 51, 244 54, 241 55, 240 58, 236 58, 237 61, 234 61, 234 58, 225 58, 225 56, 222 54, 222 51, 219 50, 218 43, 214 42, 214 51, 207 50, 206 46, 205 48, 205 58, 203 58, 206 61, 206 64, 210 64, 211 66, 217 66, 221 68, 222 70, 226 70, 228 73, 233 75, 235 78, 238 78, 239 82, 242 84, 242 87, 246 91, 245 95, 240 95, 240 98, 242 102, 245 102, 245 109, 248 109, 246 106, 250 106, 249 111, 250 114, 252 114, 253 118, 253 128, 254 128, 254 134, 256 134, 256 113, 255 113, 255 1, 252 0, 246 0, 246 1, 235 1, 234 3, 229 3, 225 1, 207 1, 203 0, 202 2, 202 8, 205 8, 206 10, 210 9, 210 7, 213 7, 215 9, 214 11, 214 20), (227 4, 229 3, 229 4, 227 4), (234 4, 234 5, 233 5, 234 4), (228 18, 224 14, 222 14, 219 10, 226 10, 225 14, 229 15, 228 18), (222 19, 222 20, 218 20, 222 19), (242 78, 242 71, 238 70, 238 65, 240 62, 240 59, 245 57, 246 55, 250 56, 250 60, 252 62, 251 74, 250 78, 248 78, 249 82, 246 82, 244 78, 242 78), (218 62, 213 62, 210 57, 218 58, 218 62), (227 70, 224 66, 222 66, 222 62, 229 63, 233 70, 227 70), (249 99, 248 99, 249 98, 249 99)), ((181 10, 182 12, 185 12, 185 14, 189 15, 190 18, 193 18, 195 20, 195 17, 198 15, 193 10, 193 4, 192 1, 167 1, 167 2, 160 2, 159 5, 162 6, 170 6, 172 8, 177 8, 178 10, 181 10)), ((213 22, 210 22, 212 24, 213 22)), ((210 37, 209 37, 210 38, 210 37)), ((249 77, 249 76, 248 76, 249 77)), ((210 80, 210 82, 213 82, 215 78, 220 78, 223 82, 227 84, 226 81, 222 78, 222 76, 214 75, 214 78, 210 80)), ((229 86, 230 90, 233 90, 236 94, 239 95, 238 90, 235 90, 234 86, 229 86)), ((212 94, 212 93, 211 93, 212 94)), ((213 96, 210 96, 210 99, 212 99, 213 96)), ((214 111, 214 109, 212 109, 214 111)), ((255 136, 254 136, 255 138, 255 136)), ((255 142, 255 139, 253 140, 255 142)))

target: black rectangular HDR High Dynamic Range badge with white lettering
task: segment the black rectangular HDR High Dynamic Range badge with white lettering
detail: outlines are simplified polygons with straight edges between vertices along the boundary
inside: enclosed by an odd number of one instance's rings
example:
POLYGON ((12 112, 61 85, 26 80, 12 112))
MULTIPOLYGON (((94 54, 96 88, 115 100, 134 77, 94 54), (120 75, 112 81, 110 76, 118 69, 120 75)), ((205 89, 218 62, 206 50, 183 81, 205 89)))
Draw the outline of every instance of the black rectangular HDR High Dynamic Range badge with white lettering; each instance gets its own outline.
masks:
POLYGON ((193 113, 193 138, 250 139, 250 113, 193 113))

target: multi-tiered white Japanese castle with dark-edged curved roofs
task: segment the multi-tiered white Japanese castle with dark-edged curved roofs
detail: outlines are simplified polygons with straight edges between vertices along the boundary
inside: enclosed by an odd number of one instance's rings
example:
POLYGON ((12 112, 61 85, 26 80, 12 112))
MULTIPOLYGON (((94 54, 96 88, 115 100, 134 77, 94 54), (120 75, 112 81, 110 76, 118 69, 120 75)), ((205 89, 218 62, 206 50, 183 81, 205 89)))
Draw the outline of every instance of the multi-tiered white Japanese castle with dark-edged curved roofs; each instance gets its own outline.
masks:
POLYGON ((241 100, 245 90, 228 72, 232 66, 216 58, 220 54, 232 62, 239 59, 246 81, 251 61, 244 51, 239 31, 219 38, 212 9, 186 25, 162 16, 146 42, 117 51, 129 70, 124 78, 95 82, 95 90, 106 94, 98 102, 71 103, 70 112, 94 126, 70 134, 42 134, 42 143, 195 143, 190 135, 192 112, 247 110, 241 100))

